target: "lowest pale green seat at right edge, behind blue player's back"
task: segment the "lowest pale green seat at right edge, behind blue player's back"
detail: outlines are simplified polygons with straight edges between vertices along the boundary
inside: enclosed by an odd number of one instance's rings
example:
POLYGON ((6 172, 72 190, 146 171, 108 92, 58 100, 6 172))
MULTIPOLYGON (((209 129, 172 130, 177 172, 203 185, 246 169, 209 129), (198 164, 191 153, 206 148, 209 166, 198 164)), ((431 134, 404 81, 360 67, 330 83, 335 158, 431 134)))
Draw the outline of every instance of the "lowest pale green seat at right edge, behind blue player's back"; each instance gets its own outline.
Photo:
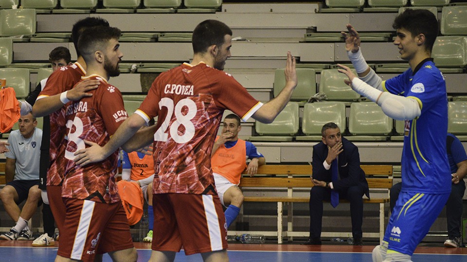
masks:
POLYGON ((448 102, 448 132, 467 134, 467 101, 448 102))

